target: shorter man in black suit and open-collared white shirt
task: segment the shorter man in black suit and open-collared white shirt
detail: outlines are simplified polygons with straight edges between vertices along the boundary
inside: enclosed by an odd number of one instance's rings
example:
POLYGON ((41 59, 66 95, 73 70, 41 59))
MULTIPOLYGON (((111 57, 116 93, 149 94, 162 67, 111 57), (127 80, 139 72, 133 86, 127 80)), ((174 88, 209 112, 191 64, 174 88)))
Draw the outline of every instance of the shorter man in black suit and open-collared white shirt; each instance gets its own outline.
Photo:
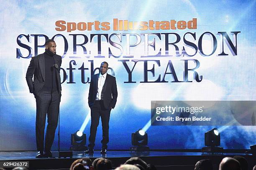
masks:
POLYGON ((115 77, 107 74, 108 63, 102 62, 100 66, 100 73, 92 76, 90 83, 90 90, 88 96, 88 104, 91 109, 91 127, 88 150, 85 154, 93 154, 93 147, 95 146, 95 137, 99 120, 101 117, 102 123, 102 150, 101 154, 106 154, 108 144, 108 129, 110 111, 114 109, 118 91, 116 87, 115 77))

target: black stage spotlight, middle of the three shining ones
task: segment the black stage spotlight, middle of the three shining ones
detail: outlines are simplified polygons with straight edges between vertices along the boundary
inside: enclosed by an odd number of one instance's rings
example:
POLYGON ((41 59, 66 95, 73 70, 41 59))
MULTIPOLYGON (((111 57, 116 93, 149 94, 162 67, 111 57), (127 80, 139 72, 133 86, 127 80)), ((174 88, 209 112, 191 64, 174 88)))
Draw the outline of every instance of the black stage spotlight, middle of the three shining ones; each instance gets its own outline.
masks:
POLYGON ((138 129, 135 133, 132 133, 132 145, 130 151, 136 152, 149 152, 148 134, 143 129, 138 129))

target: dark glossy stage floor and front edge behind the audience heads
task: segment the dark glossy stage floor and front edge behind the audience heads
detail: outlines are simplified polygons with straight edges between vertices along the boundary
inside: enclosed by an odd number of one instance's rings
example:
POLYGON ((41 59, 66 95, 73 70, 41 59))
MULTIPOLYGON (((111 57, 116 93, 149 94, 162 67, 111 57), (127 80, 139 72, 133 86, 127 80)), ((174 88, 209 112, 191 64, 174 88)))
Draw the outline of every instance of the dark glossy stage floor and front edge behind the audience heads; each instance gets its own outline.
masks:
POLYGON ((82 151, 74 151, 72 158, 35 158, 36 151, 0 151, 0 160, 4 161, 29 161, 29 169, 32 170, 56 170, 69 169, 72 162, 82 157, 89 157, 94 160, 97 157, 106 157, 112 161, 113 167, 118 167, 130 157, 141 157, 145 162, 153 164, 158 170, 189 170, 194 169, 195 163, 202 159, 211 159, 214 170, 218 170, 218 165, 223 157, 233 157, 241 155, 246 157, 250 166, 256 164, 256 159, 252 155, 241 153, 224 153, 223 155, 202 155, 202 152, 130 152, 130 151, 108 151, 106 155, 101 155, 100 151, 95 151, 93 155, 84 155, 82 151))

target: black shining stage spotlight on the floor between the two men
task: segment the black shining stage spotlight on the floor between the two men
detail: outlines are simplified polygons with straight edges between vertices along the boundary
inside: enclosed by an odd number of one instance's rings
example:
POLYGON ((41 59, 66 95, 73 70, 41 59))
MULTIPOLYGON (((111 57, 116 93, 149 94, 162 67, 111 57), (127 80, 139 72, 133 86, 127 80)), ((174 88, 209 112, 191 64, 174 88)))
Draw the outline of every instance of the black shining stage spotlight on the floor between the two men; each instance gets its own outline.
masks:
POLYGON ((87 150, 86 134, 82 131, 77 130, 74 134, 71 134, 71 147, 70 150, 87 150))

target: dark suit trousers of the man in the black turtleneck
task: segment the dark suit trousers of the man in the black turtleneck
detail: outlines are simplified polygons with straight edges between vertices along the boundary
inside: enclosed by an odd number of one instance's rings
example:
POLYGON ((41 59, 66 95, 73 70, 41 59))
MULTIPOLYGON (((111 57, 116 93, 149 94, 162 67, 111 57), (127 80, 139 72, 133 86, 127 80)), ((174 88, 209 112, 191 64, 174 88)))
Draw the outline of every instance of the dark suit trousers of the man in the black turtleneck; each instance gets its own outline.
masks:
POLYGON ((49 151, 54 141, 59 117, 58 91, 39 91, 36 98, 36 147, 38 151, 49 151), (47 115, 47 128, 44 146, 44 129, 47 115))

